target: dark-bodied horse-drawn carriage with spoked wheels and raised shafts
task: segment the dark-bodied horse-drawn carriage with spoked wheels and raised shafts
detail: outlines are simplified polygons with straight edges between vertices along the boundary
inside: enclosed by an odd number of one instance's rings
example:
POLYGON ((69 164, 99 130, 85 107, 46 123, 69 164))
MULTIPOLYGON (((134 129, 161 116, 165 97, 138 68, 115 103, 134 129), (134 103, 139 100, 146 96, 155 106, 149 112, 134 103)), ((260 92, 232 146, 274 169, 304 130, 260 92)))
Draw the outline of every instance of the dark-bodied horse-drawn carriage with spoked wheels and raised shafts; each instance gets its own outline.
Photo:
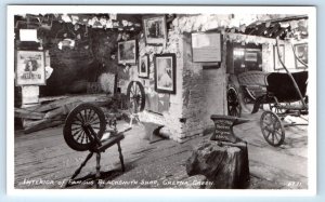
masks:
MULTIPOLYGON (((260 127, 265 140, 274 147, 284 143, 285 127, 307 125, 307 123, 283 123, 282 121, 287 116, 308 115, 308 71, 291 73, 281 57, 278 58, 286 72, 245 72, 237 78, 240 89, 234 85, 230 85, 227 89, 229 113, 231 116, 239 117, 242 115, 240 103, 253 103, 251 113, 256 113, 263 105, 269 105, 269 110, 261 115, 260 127), (244 98, 239 97, 238 91, 242 92, 244 98)), ((300 62, 298 57, 296 58, 300 62)), ((306 65, 303 62, 300 63, 306 65)))

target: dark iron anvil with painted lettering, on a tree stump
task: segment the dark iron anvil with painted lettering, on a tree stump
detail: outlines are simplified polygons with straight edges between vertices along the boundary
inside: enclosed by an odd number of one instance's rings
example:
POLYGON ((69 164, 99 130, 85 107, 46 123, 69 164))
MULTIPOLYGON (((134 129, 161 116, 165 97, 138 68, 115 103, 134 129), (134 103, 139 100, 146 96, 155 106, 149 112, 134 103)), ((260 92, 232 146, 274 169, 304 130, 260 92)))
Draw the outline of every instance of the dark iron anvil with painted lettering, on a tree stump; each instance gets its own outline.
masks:
POLYGON ((233 126, 250 121, 249 119, 218 115, 212 115, 211 120, 214 122, 214 133, 210 137, 210 140, 231 143, 239 140, 234 134, 233 126))

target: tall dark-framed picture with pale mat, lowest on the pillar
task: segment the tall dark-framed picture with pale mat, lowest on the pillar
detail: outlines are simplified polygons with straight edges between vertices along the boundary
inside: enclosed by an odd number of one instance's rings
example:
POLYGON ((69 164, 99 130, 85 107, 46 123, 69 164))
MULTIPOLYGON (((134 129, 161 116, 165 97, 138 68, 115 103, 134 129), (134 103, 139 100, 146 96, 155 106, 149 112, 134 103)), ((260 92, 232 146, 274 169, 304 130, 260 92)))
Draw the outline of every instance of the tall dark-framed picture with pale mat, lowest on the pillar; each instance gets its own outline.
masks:
POLYGON ((154 65, 156 92, 176 94, 176 54, 154 55, 154 65))

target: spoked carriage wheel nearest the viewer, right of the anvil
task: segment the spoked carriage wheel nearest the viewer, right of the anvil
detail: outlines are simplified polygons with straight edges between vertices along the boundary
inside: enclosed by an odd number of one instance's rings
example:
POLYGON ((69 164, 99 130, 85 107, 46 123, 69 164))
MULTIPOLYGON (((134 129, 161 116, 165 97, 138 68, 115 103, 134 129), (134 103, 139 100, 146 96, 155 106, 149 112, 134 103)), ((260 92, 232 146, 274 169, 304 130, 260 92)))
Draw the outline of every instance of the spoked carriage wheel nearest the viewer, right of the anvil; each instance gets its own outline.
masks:
POLYGON ((264 111, 261 116, 260 126, 265 140, 274 146, 278 147, 285 139, 284 126, 278 116, 273 111, 264 111))

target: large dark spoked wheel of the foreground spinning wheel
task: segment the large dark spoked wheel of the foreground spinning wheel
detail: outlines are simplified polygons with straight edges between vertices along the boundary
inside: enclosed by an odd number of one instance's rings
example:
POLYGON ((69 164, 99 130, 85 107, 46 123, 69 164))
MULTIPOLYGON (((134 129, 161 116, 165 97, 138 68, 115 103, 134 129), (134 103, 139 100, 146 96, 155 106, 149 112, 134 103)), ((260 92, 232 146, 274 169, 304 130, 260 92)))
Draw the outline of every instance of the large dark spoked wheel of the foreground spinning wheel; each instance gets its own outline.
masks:
POLYGON ((63 135, 66 144, 77 151, 90 150, 94 140, 91 140, 84 132, 86 125, 90 125, 99 139, 106 130, 105 115, 101 108, 92 104, 81 104, 73 109, 65 120, 63 135))

